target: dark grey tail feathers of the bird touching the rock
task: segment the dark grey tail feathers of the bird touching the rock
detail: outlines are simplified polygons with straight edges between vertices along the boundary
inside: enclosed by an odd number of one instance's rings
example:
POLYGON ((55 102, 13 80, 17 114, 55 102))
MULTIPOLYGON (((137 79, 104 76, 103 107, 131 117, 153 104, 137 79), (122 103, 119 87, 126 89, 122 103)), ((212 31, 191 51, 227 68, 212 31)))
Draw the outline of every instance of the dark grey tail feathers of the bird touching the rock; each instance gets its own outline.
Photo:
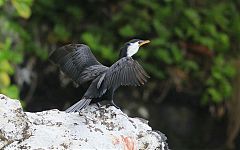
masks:
POLYGON ((69 112, 79 112, 81 111, 83 108, 87 107, 92 99, 81 99, 80 101, 78 101, 77 103, 75 103, 74 105, 72 105, 71 107, 69 107, 67 110, 65 110, 65 112, 69 113, 69 112))

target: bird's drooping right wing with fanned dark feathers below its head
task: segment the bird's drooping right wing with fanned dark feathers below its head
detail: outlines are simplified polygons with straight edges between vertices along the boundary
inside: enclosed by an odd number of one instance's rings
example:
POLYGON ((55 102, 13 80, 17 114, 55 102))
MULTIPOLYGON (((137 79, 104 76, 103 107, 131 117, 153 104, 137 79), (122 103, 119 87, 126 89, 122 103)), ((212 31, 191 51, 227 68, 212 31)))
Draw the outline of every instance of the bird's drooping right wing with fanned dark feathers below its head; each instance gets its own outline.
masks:
POLYGON ((147 82, 149 75, 131 57, 123 57, 114 63, 100 79, 97 88, 102 91, 116 89, 120 85, 140 86, 147 82))

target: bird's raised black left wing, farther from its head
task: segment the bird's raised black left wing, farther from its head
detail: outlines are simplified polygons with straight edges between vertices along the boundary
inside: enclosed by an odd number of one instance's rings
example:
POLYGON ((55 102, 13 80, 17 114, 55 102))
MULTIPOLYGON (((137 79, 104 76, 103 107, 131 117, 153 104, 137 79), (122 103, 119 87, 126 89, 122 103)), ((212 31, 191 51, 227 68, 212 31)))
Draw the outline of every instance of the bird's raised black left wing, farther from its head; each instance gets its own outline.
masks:
POLYGON ((53 51, 49 59, 79 84, 95 79, 108 68, 99 63, 84 44, 62 46, 53 51))

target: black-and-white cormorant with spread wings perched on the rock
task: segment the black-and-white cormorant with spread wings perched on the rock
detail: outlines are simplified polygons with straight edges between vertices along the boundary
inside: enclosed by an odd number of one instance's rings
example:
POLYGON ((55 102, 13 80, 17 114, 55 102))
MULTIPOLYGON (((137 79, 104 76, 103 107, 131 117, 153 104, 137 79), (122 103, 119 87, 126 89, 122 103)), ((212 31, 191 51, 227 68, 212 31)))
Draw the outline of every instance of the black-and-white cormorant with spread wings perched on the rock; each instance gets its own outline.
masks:
POLYGON ((50 61, 77 84, 90 82, 90 85, 77 103, 65 112, 80 112, 91 104, 107 100, 114 103, 114 93, 120 86, 141 86, 150 76, 143 67, 132 58, 139 48, 149 40, 132 39, 120 48, 119 59, 110 67, 102 65, 85 44, 67 44, 49 55, 50 61))

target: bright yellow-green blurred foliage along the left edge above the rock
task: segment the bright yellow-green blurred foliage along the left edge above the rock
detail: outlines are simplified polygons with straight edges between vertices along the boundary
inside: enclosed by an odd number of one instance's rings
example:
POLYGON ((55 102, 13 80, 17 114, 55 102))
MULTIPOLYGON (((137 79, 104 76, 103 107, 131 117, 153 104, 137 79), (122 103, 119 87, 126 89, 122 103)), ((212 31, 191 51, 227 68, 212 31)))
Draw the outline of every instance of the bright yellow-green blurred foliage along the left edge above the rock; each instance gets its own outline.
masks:
MULTIPOLYGON (((12 6, 7 5, 7 1, 0 0, 0 7, 3 7, 0 15, 0 93, 19 99, 20 89, 12 83, 11 76, 15 73, 15 66, 23 62, 24 39, 29 38, 29 33, 19 22, 9 17, 11 15, 7 9, 14 7, 19 16, 29 18, 32 0, 12 0, 11 3, 12 6)), ((12 17, 14 16, 15 14, 12 17)))

